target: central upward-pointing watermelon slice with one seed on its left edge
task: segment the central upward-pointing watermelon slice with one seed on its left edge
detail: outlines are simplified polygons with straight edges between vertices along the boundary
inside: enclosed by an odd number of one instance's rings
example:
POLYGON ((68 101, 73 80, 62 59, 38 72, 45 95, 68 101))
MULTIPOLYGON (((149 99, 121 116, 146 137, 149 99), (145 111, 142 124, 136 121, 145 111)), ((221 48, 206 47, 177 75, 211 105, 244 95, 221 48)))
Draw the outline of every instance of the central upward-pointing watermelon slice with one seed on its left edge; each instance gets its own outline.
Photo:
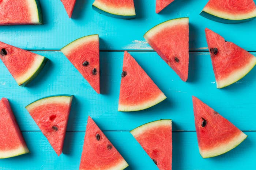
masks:
POLYGON ((152 107, 166 99, 163 92, 125 51, 118 111, 138 111, 152 107))

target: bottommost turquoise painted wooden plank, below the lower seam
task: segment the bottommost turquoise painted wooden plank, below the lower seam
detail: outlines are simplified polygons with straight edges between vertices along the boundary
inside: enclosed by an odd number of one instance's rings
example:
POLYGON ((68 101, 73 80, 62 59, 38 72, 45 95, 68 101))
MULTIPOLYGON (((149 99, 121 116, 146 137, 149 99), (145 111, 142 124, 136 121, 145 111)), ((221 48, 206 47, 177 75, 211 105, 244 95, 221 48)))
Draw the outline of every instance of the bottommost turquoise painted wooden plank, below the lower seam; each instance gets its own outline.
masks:
MULTIPOLYGON (((126 159, 127 170, 157 170, 139 143, 129 132, 105 132, 113 145, 126 159)), ((226 170, 253 169, 256 166, 256 133, 246 132, 248 138, 237 148, 215 158, 203 159, 198 151, 195 132, 173 133, 173 170, 226 170)), ((68 132, 64 142, 64 154, 53 151, 41 132, 23 132, 31 153, 19 157, 1 159, 2 170, 74 170, 78 169, 83 147, 84 132, 68 132)))

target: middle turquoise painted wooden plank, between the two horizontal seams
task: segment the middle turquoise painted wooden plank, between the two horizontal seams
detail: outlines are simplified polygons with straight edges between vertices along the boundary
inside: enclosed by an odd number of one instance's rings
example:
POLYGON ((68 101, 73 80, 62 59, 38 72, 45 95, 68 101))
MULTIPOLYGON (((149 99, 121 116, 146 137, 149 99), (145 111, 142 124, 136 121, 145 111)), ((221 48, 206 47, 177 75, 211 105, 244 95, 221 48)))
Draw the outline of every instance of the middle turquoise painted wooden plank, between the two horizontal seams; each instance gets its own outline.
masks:
MULTIPOLYGON (((102 130, 132 130, 158 119, 173 119, 173 130, 195 130, 192 95, 233 122, 241 130, 256 130, 254 114, 256 69, 245 78, 217 89, 208 52, 191 52, 188 82, 182 82, 155 52, 131 52, 138 63, 165 93, 167 99, 138 112, 118 112, 123 52, 101 52, 101 91, 97 94, 61 52, 37 52, 50 59, 27 87, 19 87, 0 62, 0 96, 10 99, 24 131, 39 130, 24 108, 34 100, 54 94, 75 95, 68 131, 82 131, 90 115, 102 130)), ((256 55, 256 53, 253 53, 256 55)))

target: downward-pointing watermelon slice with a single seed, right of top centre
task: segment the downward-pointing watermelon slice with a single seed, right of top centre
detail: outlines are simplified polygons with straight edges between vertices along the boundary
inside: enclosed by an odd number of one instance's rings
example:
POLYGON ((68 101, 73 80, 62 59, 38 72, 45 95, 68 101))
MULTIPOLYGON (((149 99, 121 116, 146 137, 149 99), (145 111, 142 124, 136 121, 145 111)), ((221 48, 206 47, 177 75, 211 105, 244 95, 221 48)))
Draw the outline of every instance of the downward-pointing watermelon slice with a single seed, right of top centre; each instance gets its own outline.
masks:
POLYGON ((151 28, 144 38, 159 56, 186 82, 188 79, 188 18, 165 21, 151 28))

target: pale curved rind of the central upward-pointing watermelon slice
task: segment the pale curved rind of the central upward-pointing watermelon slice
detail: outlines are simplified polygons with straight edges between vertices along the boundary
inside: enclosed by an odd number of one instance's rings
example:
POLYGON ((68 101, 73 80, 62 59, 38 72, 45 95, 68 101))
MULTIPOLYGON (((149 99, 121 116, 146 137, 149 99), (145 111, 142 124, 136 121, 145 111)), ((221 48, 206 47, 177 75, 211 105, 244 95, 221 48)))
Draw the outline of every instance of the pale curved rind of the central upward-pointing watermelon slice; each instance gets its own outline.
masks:
POLYGON ((159 96, 157 98, 155 98, 154 100, 150 100, 147 101, 143 104, 139 104, 136 106, 128 106, 128 105, 124 105, 124 104, 118 104, 118 111, 123 111, 123 112, 129 112, 129 111, 140 111, 140 110, 144 110, 147 108, 150 108, 152 106, 157 105, 158 103, 162 102, 163 100, 165 100, 167 97, 165 96, 165 94, 163 94, 163 92, 161 94, 159 94, 159 96))

